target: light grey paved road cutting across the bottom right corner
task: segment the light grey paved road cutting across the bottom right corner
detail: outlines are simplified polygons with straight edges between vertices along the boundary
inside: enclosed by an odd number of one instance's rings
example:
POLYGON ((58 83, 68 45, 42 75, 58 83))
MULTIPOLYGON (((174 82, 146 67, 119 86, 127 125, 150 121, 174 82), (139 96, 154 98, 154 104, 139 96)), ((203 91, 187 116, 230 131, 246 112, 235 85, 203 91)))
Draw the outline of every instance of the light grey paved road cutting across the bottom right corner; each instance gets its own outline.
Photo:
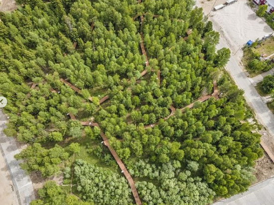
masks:
POLYGON ((213 205, 273 205, 274 179, 270 178, 251 188, 244 194, 221 200, 213 205))

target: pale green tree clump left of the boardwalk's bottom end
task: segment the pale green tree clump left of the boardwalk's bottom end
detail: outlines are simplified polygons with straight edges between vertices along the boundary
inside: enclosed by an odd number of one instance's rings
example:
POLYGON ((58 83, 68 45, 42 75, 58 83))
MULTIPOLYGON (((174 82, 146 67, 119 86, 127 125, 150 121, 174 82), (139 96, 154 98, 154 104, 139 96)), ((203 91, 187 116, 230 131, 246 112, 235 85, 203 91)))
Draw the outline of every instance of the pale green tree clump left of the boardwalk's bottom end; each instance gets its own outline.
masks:
POLYGON ((132 203, 131 190, 124 177, 78 160, 74 167, 77 190, 82 198, 95 204, 132 203))

